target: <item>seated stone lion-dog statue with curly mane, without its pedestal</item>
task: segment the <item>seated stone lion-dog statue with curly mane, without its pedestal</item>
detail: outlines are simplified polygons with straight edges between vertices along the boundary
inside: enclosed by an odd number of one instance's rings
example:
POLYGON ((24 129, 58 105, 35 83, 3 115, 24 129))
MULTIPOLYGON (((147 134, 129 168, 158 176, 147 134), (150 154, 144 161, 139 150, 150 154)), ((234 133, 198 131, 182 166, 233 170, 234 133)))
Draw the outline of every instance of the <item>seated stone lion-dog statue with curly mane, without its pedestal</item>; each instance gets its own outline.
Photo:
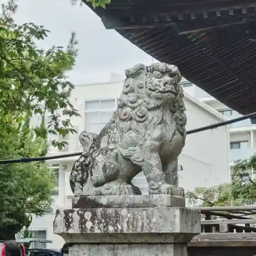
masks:
POLYGON ((70 175, 74 196, 140 195, 131 182, 140 172, 150 194, 183 196, 182 188, 173 184, 186 137, 180 72, 176 66, 154 63, 138 64, 125 75, 109 122, 98 135, 84 131, 79 136, 83 153, 70 175))

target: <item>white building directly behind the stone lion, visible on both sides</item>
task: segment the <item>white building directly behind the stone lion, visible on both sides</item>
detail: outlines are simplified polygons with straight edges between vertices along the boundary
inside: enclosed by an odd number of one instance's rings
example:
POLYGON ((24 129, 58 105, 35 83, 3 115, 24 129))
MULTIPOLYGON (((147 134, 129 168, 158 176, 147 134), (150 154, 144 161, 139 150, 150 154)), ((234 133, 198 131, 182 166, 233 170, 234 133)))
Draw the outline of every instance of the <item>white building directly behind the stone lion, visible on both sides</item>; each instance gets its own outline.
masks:
MULTIPOLYGON (((79 110, 81 117, 74 118, 72 122, 78 134, 84 129, 90 132, 101 130, 116 110, 122 85, 123 82, 119 80, 75 87, 71 101, 79 110)), ((186 93, 185 105, 187 131, 227 120, 219 112, 186 93)), ((70 135, 67 138, 70 144, 61 152, 53 148, 50 154, 79 152, 81 147, 78 142, 78 134, 70 135)), ((227 126, 187 135, 186 145, 179 157, 179 164, 183 167, 183 170, 179 171, 179 185, 185 190, 191 190, 197 186, 211 186, 228 182, 228 144, 227 126)), ((49 161, 56 170, 57 177, 55 204, 52 206, 52 212, 44 217, 34 218, 31 224, 31 229, 35 232, 38 231, 36 236, 53 240, 53 244, 47 245, 49 248, 60 248, 63 244, 62 238, 53 234, 52 226, 56 208, 71 207, 72 191, 69 185, 69 175, 77 158, 49 161)), ((141 187, 143 193, 147 193, 147 183, 142 175, 139 175, 134 183, 141 187)))

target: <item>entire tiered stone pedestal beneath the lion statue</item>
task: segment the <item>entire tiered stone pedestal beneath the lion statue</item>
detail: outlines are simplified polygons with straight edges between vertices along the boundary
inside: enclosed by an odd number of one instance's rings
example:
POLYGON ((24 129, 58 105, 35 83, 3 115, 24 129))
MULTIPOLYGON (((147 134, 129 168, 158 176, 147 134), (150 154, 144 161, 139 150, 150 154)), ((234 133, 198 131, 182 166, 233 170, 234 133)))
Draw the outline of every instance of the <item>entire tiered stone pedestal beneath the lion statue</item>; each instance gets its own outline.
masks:
POLYGON ((201 232, 200 211, 185 208, 181 197, 87 197, 76 204, 57 210, 54 221, 72 256, 186 256, 187 243, 201 232))

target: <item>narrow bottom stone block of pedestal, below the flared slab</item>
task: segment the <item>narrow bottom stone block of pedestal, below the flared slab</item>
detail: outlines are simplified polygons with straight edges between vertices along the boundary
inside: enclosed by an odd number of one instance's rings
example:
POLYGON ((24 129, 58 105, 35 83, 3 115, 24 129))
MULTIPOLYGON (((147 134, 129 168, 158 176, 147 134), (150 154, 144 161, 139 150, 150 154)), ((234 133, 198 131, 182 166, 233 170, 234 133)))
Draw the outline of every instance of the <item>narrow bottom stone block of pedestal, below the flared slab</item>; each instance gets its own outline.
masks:
POLYGON ((187 256, 185 244, 81 244, 69 249, 71 256, 187 256))

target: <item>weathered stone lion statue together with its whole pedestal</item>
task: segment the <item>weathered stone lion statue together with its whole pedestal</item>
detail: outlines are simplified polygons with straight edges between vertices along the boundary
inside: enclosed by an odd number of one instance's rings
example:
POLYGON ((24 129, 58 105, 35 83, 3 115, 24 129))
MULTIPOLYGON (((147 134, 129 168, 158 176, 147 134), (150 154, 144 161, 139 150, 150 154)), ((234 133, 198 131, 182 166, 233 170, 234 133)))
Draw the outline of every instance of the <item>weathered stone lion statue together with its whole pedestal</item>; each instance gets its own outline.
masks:
POLYGON ((54 233, 75 244, 70 256, 186 256, 201 214, 184 207, 178 187, 186 137, 181 74, 166 63, 138 64, 125 74, 110 121, 98 135, 79 136, 83 153, 70 175, 73 209, 56 211, 54 233), (131 183, 140 172, 148 196, 131 183))

